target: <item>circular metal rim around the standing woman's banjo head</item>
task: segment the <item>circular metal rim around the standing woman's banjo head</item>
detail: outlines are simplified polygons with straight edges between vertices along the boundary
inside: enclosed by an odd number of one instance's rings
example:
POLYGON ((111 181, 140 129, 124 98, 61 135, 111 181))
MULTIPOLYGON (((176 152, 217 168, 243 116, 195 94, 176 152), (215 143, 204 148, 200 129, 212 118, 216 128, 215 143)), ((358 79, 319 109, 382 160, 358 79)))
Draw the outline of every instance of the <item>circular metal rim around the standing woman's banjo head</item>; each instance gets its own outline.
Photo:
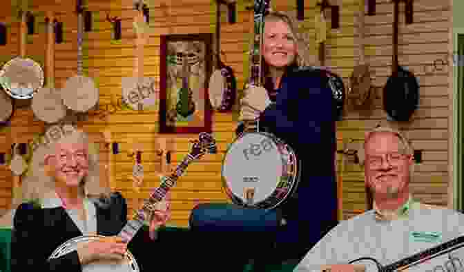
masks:
MULTIPOLYGON (((283 155, 281 155, 281 156, 283 156, 283 155)), ((282 158, 282 160, 284 160, 284 158, 282 158)), ((235 205, 239 205, 239 206, 242 206, 242 207, 249 207, 249 208, 258 208, 258 209, 268 209, 268 210, 275 209, 276 207, 281 205, 282 202, 284 202, 285 200, 290 198, 291 195, 293 195, 293 193, 296 191, 296 188, 298 187, 298 184, 300 182, 300 171, 301 171, 301 161, 298 160, 298 158, 296 158, 296 154, 293 151, 293 149, 289 145, 287 145, 287 143, 284 143, 283 140, 281 140, 280 138, 277 138, 275 135, 273 135, 273 134, 271 134, 269 132, 244 132, 244 133, 240 134, 237 138, 235 138, 235 140, 233 140, 233 143, 231 143, 227 147, 226 153, 225 153, 224 157, 222 158, 222 163, 221 163, 222 188, 224 189, 227 196, 229 196, 229 198, 232 200, 232 202, 235 205), (240 138, 243 138, 247 134, 261 134, 263 136, 267 136, 267 137, 271 138, 271 140, 273 140, 274 143, 278 146, 280 154, 282 154, 282 149, 281 148, 283 147, 285 149, 284 151, 287 152, 287 154, 289 156, 289 159, 287 160, 287 163, 284 163, 284 162, 282 162, 282 163, 286 164, 287 167, 291 167, 291 165, 292 165, 291 162, 292 161, 294 162, 293 163, 293 174, 291 174, 291 172, 289 172, 289 171, 286 171, 287 179, 289 180, 289 182, 287 182, 287 190, 286 190, 286 192, 284 191, 285 193, 284 193, 283 198, 281 196, 280 196, 280 198, 275 198, 275 196, 279 193, 279 189, 277 188, 277 184, 276 184, 276 189, 274 189, 273 193, 271 193, 271 195, 266 200, 262 200, 261 202, 254 203, 253 205, 248 205, 240 197, 235 195, 235 193, 233 193, 231 191, 231 189, 229 188, 228 182, 227 182, 226 178, 224 177, 224 166, 225 166, 224 162, 226 160, 227 154, 229 154, 229 151, 231 150, 231 147, 233 147, 233 145, 235 143, 237 143, 237 141, 240 140, 240 138)), ((282 178, 284 178, 283 173, 282 173, 281 180, 282 180, 282 178)))

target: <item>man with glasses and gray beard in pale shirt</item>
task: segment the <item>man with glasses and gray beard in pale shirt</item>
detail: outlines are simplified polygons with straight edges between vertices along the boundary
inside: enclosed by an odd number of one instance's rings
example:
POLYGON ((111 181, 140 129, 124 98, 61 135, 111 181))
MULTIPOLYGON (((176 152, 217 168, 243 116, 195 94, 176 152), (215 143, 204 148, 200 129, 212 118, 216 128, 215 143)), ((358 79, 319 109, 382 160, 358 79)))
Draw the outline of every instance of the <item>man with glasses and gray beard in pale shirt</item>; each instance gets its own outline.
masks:
MULTIPOLYGON (((414 151, 399 132, 377 127, 366 135, 364 145, 365 182, 373 193, 374 209, 340 222, 294 271, 378 271, 378 264, 392 264, 463 235, 462 213, 412 198, 414 151), (359 258, 378 263, 351 262, 359 258)), ((422 271, 434 271, 424 266, 422 271)))

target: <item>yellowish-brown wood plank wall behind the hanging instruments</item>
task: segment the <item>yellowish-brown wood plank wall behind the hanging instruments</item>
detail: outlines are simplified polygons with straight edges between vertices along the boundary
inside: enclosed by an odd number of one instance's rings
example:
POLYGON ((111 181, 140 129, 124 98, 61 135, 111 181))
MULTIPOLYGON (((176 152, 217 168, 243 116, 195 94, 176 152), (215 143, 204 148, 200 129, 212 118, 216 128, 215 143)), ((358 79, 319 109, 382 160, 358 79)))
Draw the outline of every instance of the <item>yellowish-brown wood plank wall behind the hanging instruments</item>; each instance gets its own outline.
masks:
MULTIPOLYGON (((40 0, 45 1, 45 0, 40 0)), ((74 6, 43 4, 39 0, 34 10, 56 10, 56 17, 64 23, 64 43, 55 45, 55 76, 57 87, 62 87, 68 77, 75 74, 77 68, 77 16, 74 6)), ((74 1, 72 1, 74 2, 74 1)), ((100 91, 100 104, 107 105, 121 98, 121 78, 132 76, 134 63, 134 38, 132 28, 134 11, 132 0, 106 1, 88 0, 88 10, 93 12, 93 30, 85 34, 84 70, 92 76, 100 91), (111 25, 106 21, 110 17, 122 19, 122 41, 111 41, 111 25)), ((215 8, 211 0, 190 0, 189 6, 179 1, 165 0, 149 3, 150 25, 153 34, 144 50, 145 76, 159 78, 160 73, 160 35, 189 34, 214 32, 215 8)), ((295 7, 289 1, 272 1, 276 10, 294 12, 295 7)), ((340 0, 340 29, 331 30, 327 41, 326 65, 340 74, 349 83, 349 76, 358 58, 356 16, 358 0, 340 0)), ((304 30, 309 34, 309 49, 316 56, 313 18, 318 8, 316 0, 305 0, 304 30)), ((374 109, 365 112, 346 112, 344 121, 338 123, 338 138, 353 138, 360 142, 365 131, 379 122, 386 123, 382 109, 382 87, 391 74, 392 63, 392 21, 393 4, 389 0, 376 1, 376 15, 365 17, 365 43, 367 61, 374 70, 373 80, 376 96, 374 109)), ((238 86, 244 85, 246 64, 244 52, 248 50, 251 21, 249 12, 244 10, 243 1, 239 1, 237 23, 226 23, 225 10, 222 12, 221 49, 226 54, 226 64, 231 65, 238 77, 238 86)), ((412 188, 415 196, 424 202, 436 205, 447 205, 447 187, 451 181, 448 173, 448 118, 452 97, 447 88, 450 67, 443 71, 426 74, 423 67, 436 59, 447 59, 450 40, 450 6, 447 1, 416 0, 414 1, 414 23, 405 25, 404 6, 400 5, 400 26, 398 38, 398 54, 400 65, 409 67, 421 84, 420 109, 407 124, 396 124, 405 129, 405 134, 412 140, 416 149, 423 149, 423 163, 416 165, 416 173, 412 188)), ((1 21, 11 21, 10 14, 3 14, 1 21)), ((40 19, 39 19, 40 21, 40 19)), ((8 45, 1 49, 1 61, 7 61, 17 54, 17 28, 10 29, 8 45)), ((28 55, 41 61, 44 44, 43 34, 30 39, 28 55), (37 46, 36 46, 37 45, 37 46)), ((449 59, 449 58, 448 58, 449 59)), ((428 70, 429 72, 429 70, 428 70)), ((236 107, 235 107, 236 109, 236 107)), ((188 140, 197 135, 160 135, 157 123, 158 112, 116 112, 108 120, 90 118, 81 126, 90 134, 97 134, 104 128, 110 128, 115 142, 120 144, 121 154, 113 156, 115 173, 113 189, 121 191, 128 199, 130 209, 135 207, 137 199, 147 196, 148 188, 159 185, 158 174, 162 171, 162 158, 157 156, 163 140, 173 140, 172 165, 175 167, 189 152, 188 140), (125 153, 137 141, 144 147, 144 165, 146 180, 140 193, 131 189, 131 181, 126 176, 131 174, 132 161, 125 153), (117 169, 117 170, 116 170, 117 169)), ((35 121, 30 110, 17 112, 10 131, 3 132, 3 149, 8 148, 10 141, 17 141, 19 135, 29 137, 42 130, 43 123, 35 121), (9 138, 12 138, 9 140, 9 138), (6 144, 8 143, 8 144, 6 144)), ((206 155, 201 161, 193 163, 180 178, 173 189, 173 218, 171 224, 187 226, 189 214, 200 202, 229 202, 222 191, 220 179, 221 160, 226 146, 234 138, 236 113, 213 114, 213 135, 218 140, 218 154, 206 155)), ((30 137, 32 138, 32 136, 30 137)), ((342 140, 338 144, 341 148, 342 140)), ((340 162, 340 156, 338 156, 340 162)), ((340 166, 340 163, 338 163, 340 166)), ((10 171, 1 170, 0 208, 8 208, 11 196, 10 171)), ((364 172, 359 165, 347 164, 343 173, 343 214, 350 218, 365 209, 364 172)))

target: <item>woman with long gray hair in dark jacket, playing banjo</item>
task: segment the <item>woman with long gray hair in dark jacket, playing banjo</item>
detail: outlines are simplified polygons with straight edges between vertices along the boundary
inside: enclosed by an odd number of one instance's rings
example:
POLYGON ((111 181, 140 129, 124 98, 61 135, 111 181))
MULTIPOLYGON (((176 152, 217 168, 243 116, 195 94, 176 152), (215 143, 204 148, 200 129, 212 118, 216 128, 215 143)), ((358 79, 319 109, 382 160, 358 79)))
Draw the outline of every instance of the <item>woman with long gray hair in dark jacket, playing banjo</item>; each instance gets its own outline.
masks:
MULTIPOLYGON (((23 197, 34 201, 22 202, 14 214, 12 271, 81 271, 81 266, 97 260, 122 260, 126 249, 138 259, 142 271, 148 270, 150 256, 144 253, 148 233, 141 229, 129 243, 116 236, 127 222, 126 200, 121 193, 99 186, 95 175, 99 164, 95 152, 89 154, 88 136, 69 128, 54 128, 63 133, 43 149, 43 157, 37 158, 43 167, 32 175, 37 180, 28 180, 24 188, 23 197), (48 260, 60 244, 95 234, 106 237, 48 260)), ((157 204, 149 220, 152 240, 169 213, 162 209, 166 201, 157 204)))

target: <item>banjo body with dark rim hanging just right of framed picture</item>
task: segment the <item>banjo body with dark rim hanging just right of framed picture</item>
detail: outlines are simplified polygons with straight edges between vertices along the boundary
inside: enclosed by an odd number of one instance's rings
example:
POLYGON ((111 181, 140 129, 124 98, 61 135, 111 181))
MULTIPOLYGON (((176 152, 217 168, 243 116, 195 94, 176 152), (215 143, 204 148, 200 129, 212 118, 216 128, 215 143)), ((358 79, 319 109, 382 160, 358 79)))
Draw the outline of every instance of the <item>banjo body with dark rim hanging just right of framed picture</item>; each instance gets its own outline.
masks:
POLYGON ((217 112, 228 112, 232 109, 237 96, 237 81, 231 67, 220 59, 219 65, 209 79, 209 101, 217 112))

